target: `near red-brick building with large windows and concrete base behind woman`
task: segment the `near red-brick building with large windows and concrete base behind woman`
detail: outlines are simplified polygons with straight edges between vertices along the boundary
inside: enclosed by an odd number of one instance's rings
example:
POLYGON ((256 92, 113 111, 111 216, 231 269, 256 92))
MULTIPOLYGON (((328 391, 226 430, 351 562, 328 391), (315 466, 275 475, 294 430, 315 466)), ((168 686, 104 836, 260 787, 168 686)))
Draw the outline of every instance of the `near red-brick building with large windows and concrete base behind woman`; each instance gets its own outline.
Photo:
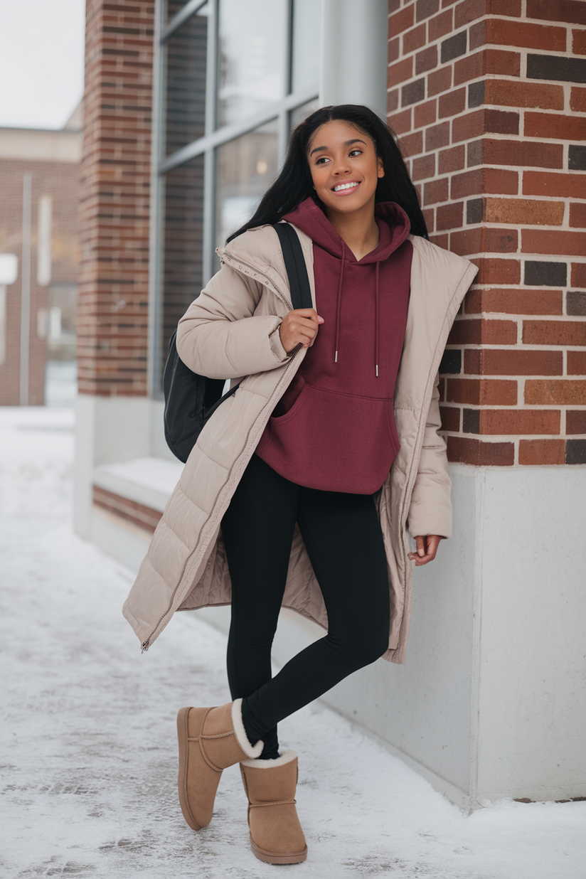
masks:
MULTIPOLYGON (((455 528, 416 571, 407 665, 325 701, 463 808, 586 795, 586 5, 317 7, 89 0, 76 529, 140 562, 181 471, 166 346, 214 247, 315 106, 387 113, 431 240, 480 267, 441 370, 455 528)), ((280 628, 281 661, 316 636, 280 628)))

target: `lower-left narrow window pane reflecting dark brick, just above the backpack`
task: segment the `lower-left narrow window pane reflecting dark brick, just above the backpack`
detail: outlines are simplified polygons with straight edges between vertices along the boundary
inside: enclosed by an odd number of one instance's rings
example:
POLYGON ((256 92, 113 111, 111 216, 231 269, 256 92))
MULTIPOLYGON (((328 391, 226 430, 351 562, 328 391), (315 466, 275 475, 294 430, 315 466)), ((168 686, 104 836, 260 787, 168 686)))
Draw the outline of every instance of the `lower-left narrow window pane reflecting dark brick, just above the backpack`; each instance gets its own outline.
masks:
POLYGON ((177 321, 201 292, 204 207, 204 156, 165 174, 163 229, 163 307, 159 376, 177 321))

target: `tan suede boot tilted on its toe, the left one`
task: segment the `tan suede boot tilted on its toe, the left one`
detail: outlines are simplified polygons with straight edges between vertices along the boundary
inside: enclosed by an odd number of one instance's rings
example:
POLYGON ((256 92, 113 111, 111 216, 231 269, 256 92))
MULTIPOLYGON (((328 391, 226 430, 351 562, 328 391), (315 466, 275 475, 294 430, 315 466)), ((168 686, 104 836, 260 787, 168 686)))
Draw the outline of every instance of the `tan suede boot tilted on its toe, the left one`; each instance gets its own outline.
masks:
POLYGON ((212 820, 222 769, 258 757, 264 743, 250 745, 242 723, 242 699, 221 708, 181 708, 177 737, 181 811, 193 830, 201 830, 212 820))

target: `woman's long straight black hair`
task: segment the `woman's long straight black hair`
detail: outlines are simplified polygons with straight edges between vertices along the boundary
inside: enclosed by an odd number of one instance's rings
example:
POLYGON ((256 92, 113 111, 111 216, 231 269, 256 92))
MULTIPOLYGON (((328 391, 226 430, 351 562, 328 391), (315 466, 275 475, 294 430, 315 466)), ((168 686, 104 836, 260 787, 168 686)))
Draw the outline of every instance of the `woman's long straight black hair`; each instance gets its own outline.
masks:
POLYGON ((416 188, 409 178, 394 132, 368 107, 361 104, 338 104, 320 107, 294 129, 279 177, 264 193, 254 215, 229 236, 228 241, 242 235, 247 229, 278 222, 284 214, 293 211, 310 195, 321 204, 315 196, 307 148, 315 131, 325 122, 334 120, 350 123, 373 141, 376 155, 382 159, 385 169, 385 176, 379 178, 374 200, 396 202, 408 215, 413 235, 427 237, 427 227, 419 207, 416 188))

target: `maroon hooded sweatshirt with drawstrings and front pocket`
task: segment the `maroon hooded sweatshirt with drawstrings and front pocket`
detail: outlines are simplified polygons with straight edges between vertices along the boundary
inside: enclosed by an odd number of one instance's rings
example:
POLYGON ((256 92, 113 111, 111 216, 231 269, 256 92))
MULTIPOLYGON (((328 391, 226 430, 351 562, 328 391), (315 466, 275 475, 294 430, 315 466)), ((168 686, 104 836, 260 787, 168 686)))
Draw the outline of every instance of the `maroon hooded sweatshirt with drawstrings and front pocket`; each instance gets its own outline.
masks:
POLYGON ((393 396, 413 250, 401 207, 377 204, 374 214, 379 243, 360 260, 313 199, 285 217, 314 242, 315 301, 325 323, 257 455, 307 488, 372 494, 399 451, 393 396))

